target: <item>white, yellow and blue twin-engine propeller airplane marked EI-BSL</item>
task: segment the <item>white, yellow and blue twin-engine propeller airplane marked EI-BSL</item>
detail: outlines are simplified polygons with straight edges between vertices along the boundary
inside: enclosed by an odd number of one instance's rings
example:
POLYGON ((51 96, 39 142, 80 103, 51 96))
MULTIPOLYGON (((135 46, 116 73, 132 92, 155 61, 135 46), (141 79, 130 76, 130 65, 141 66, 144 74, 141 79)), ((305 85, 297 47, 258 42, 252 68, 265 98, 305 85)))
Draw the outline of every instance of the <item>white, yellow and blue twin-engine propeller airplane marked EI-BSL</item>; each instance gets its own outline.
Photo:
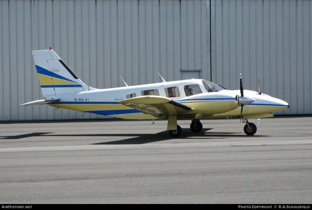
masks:
POLYGON ((32 51, 40 87, 46 100, 21 106, 48 104, 81 112, 108 115, 123 119, 168 120, 167 130, 178 137, 182 129, 178 119, 190 119, 191 130, 202 130, 202 118, 241 116, 246 120, 244 132, 253 135, 255 124, 248 119, 272 117, 271 112, 285 110, 289 105, 280 99, 251 90, 226 90, 210 81, 190 79, 148 85, 96 89, 83 83, 50 50, 32 51), (240 108, 239 108, 240 107, 240 108), (243 108, 244 107, 244 108, 243 108))

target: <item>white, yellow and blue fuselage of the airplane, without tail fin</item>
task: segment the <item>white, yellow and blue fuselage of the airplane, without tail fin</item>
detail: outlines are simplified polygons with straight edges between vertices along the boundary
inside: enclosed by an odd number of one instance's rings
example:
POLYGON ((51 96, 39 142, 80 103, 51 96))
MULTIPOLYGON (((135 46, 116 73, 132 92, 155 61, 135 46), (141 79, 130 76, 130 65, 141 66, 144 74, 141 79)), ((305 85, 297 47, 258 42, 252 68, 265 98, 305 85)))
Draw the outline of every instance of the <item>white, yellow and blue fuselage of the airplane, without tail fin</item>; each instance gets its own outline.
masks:
MULTIPOLYGON (((47 99, 52 99, 52 97, 61 99, 60 101, 49 104, 57 108, 78 110, 123 119, 158 119, 155 116, 146 115, 139 110, 131 109, 118 103, 127 98, 142 95, 159 95, 170 98, 171 100, 192 107, 192 113, 194 115, 201 114, 202 118, 240 115, 241 109, 237 109, 238 104, 236 100, 236 95, 240 95, 240 90, 223 90, 223 88, 222 90, 208 89, 207 85, 205 86, 202 81, 199 79, 190 79, 110 89, 95 89, 53 95, 47 97, 47 99)), ((244 95, 256 100, 244 106, 243 115, 250 118, 267 117, 268 115, 264 114, 284 110, 288 107, 288 104, 283 100, 265 94, 259 95, 255 91, 244 90, 244 95)), ((244 119, 248 119, 245 116, 244 119)), ((193 115, 178 117, 178 119, 186 118, 194 117, 193 115)))

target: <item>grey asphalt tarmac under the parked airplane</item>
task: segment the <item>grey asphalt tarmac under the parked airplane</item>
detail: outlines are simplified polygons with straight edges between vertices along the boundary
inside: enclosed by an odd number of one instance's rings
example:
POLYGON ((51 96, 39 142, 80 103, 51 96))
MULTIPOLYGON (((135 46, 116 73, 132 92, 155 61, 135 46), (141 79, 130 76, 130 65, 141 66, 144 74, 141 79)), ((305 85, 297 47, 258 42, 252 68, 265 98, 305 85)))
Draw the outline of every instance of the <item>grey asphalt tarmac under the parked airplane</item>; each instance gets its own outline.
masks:
POLYGON ((0 122, 0 203, 310 204, 312 116, 0 122))

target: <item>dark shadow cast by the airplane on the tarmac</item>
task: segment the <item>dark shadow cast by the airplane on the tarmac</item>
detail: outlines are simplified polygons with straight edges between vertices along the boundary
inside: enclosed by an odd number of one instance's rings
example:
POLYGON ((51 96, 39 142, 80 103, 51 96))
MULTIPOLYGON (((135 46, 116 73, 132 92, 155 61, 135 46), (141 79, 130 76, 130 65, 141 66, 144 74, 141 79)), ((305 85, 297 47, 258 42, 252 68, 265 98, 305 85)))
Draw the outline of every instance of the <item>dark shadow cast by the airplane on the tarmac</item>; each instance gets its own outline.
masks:
MULTIPOLYGON (((220 139, 220 138, 231 138, 231 137, 242 137, 246 136, 244 133, 229 133, 229 132, 207 132, 212 128, 202 129, 199 133, 193 133, 190 129, 182 129, 182 134, 178 138, 171 137, 168 131, 161 131, 157 134, 53 134, 53 133, 30 133, 15 136, 0 136, 1 139, 23 139, 28 137, 38 136, 55 136, 55 137, 126 137, 127 139, 101 142, 95 144, 146 144, 151 142, 165 141, 170 139, 220 139)), ((253 137, 261 137, 264 135, 253 135, 253 137)))

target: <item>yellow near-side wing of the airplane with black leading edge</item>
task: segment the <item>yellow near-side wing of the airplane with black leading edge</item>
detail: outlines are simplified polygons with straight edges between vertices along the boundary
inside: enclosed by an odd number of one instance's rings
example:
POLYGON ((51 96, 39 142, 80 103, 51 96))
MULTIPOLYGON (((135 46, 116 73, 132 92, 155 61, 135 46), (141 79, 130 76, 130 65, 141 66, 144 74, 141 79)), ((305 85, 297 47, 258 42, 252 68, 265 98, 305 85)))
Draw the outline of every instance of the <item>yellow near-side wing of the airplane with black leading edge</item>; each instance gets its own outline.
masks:
POLYGON ((190 106, 157 95, 138 96, 118 103, 158 118, 168 118, 169 115, 182 115, 194 110, 190 106))

